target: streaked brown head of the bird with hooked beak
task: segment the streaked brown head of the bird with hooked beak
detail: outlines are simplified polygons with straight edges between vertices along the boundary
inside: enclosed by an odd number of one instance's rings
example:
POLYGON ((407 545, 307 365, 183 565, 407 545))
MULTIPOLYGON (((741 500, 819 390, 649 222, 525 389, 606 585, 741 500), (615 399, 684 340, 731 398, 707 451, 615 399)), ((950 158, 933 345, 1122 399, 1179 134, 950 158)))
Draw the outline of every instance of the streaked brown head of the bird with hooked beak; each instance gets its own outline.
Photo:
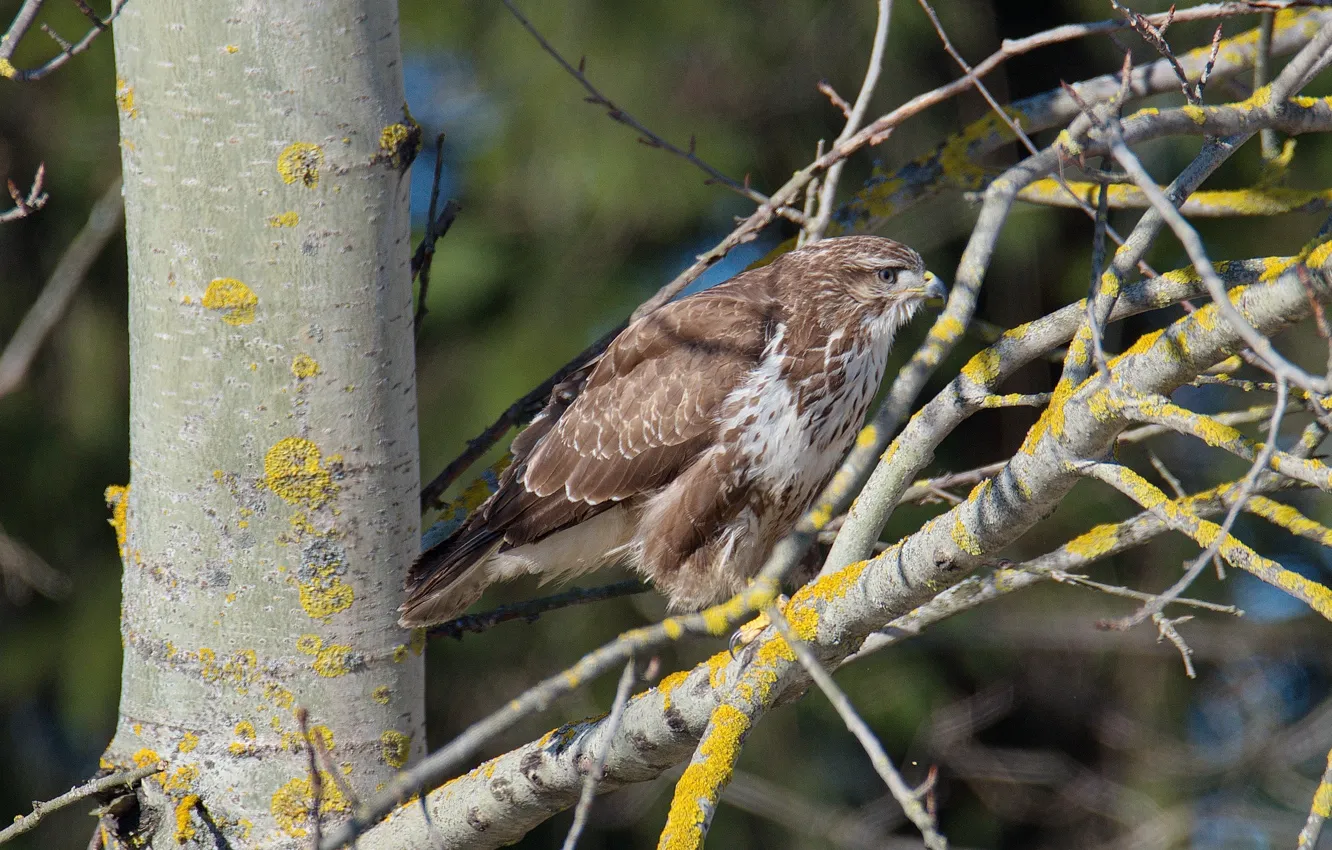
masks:
POLYGON ((825 238, 783 260, 799 280, 791 294, 809 298, 819 318, 835 325, 859 320, 891 336, 927 300, 948 294, 920 254, 882 236, 825 238))

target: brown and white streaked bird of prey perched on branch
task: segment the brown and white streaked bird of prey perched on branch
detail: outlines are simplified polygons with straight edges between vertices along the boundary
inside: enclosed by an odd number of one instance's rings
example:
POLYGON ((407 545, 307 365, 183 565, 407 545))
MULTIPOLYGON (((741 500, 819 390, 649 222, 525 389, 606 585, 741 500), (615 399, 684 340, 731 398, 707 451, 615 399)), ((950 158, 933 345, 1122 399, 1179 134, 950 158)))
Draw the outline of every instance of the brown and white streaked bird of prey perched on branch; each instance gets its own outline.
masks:
POLYGON ((634 321, 412 566, 401 625, 452 620, 496 581, 610 562, 673 610, 743 589, 850 449, 896 330, 944 294, 906 245, 846 236, 634 321))

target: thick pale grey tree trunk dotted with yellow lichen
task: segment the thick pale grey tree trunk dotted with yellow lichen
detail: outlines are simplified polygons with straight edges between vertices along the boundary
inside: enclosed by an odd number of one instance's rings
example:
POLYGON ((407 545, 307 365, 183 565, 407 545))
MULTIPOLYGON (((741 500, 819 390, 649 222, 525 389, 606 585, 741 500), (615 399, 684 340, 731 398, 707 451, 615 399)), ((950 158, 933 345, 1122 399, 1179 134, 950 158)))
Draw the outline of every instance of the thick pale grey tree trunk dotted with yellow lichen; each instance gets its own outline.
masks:
MULTIPOLYGON (((124 679, 153 846, 309 845, 296 710, 369 795, 425 747, 405 115, 394 3, 133 0, 124 679)), ((348 797, 322 777, 322 810, 348 797)))

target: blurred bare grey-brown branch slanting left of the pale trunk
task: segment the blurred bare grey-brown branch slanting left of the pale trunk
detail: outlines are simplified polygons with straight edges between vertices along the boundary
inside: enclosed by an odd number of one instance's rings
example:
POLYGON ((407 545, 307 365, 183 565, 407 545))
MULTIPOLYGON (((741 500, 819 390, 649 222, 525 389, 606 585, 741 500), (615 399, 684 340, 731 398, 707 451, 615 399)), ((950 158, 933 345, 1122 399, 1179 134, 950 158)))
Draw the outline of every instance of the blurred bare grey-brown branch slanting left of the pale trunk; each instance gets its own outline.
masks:
POLYGON ((125 208, 120 199, 120 177, 117 177, 93 204, 88 224, 65 248, 65 253, 60 256, 47 285, 43 286, 41 294, 37 296, 36 302, 5 345, 4 353, 0 354, 0 397, 12 393, 23 384, 24 376, 32 365, 32 358, 37 354, 37 349, 41 348, 41 342, 51 333, 51 329, 65 314, 79 285, 88 276, 88 269, 92 268, 111 237, 120 232, 124 212, 125 208))

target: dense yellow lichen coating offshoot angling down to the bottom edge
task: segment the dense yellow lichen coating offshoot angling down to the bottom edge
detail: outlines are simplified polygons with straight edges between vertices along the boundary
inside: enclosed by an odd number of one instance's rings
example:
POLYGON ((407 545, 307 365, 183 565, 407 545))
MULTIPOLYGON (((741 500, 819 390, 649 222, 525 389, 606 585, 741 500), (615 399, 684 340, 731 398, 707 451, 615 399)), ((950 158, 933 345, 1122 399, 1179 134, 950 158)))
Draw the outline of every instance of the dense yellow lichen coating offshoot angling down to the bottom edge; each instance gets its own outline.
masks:
POLYGON ((675 783, 658 850, 702 846, 707 811, 717 806, 722 790, 731 781, 749 726, 749 717, 735 706, 723 703, 713 711, 707 731, 698 743, 698 755, 675 783))

